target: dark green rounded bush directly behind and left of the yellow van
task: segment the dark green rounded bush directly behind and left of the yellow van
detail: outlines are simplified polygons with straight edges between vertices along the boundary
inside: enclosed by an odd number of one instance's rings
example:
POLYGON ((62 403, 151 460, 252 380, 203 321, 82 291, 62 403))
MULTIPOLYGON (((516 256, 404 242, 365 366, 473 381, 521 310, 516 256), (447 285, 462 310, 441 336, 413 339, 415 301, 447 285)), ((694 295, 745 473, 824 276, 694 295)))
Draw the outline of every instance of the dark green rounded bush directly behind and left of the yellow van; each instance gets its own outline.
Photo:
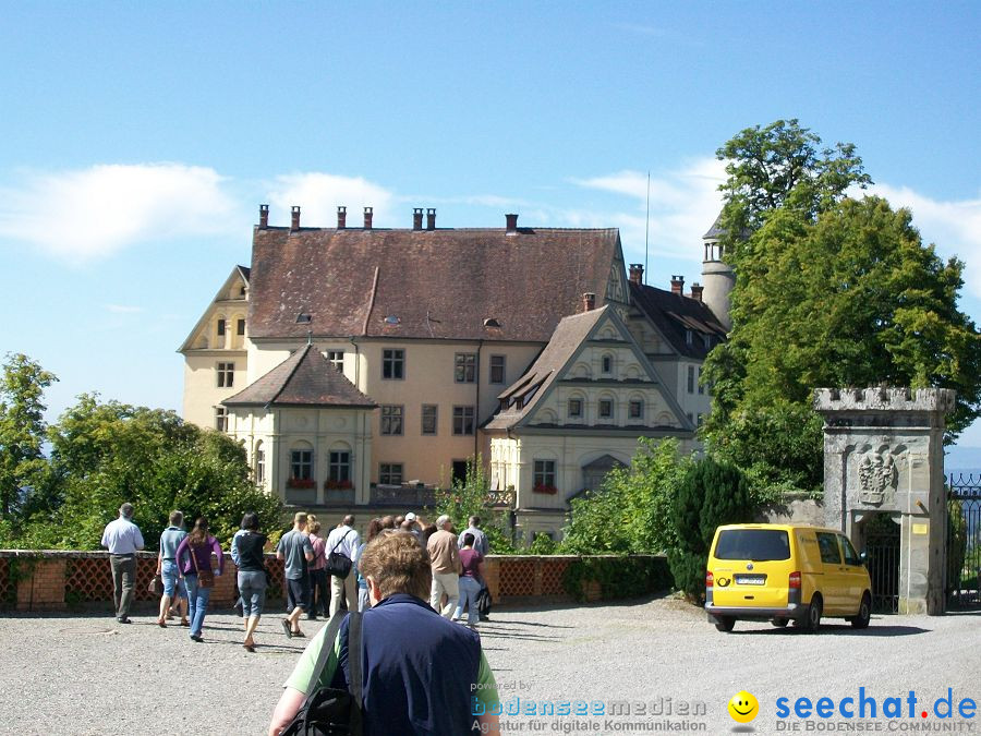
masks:
POLYGON ((702 458, 692 463, 671 505, 677 544, 668 552, 675 586, 692 601, 705 595, 708 548, 716 527, 752 521, 754 504, 742 472, 702 458))

